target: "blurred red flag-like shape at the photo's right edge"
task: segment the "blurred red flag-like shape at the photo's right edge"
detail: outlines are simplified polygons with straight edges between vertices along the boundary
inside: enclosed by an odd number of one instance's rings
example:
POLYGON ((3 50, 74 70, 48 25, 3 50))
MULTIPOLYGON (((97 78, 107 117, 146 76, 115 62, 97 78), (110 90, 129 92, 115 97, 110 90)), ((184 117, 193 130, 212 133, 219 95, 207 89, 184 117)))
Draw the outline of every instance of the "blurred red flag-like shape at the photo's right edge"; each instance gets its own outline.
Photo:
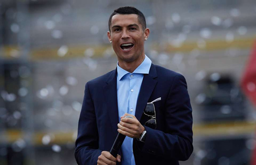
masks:
MULTIPOLYGON (((256 42, 254 42, 245 73, 242 77, 241 87, 245 95, 256 106, 256 42)), ((251 165, 256 165, 256 148, 254 148, 251 165)))

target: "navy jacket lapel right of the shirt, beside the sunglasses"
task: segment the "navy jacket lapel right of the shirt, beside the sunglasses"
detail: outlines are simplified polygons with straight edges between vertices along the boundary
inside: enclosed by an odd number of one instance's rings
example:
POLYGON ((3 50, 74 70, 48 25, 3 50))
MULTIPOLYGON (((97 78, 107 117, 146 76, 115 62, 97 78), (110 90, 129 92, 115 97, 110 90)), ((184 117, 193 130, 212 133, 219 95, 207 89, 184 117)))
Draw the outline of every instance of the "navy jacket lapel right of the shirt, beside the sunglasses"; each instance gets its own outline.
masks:
POLYGON ((139 91, 139 95, 138 95, 136 112, 135 112, 135 117, 137 118, 138 121, 141 120, 146 104, 157 84, 157 80, 155 79, 156 77, 157 77, 156 67, 154 64, 151 64, 149 74, 144 74, 141 90, 139 91))

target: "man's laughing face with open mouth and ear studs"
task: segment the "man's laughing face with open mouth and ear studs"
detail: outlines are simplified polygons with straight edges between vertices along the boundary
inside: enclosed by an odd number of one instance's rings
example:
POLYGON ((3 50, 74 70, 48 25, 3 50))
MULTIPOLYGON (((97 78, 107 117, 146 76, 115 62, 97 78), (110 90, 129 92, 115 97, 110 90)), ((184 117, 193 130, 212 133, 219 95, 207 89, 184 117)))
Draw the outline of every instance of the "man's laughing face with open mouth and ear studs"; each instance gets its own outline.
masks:
POLYGON ((114 15, 110 31, 108 38, 112 41, 119 63, 144 59, 144 40, 149 35, 149 29, 142 29, 136 14, 114 15))

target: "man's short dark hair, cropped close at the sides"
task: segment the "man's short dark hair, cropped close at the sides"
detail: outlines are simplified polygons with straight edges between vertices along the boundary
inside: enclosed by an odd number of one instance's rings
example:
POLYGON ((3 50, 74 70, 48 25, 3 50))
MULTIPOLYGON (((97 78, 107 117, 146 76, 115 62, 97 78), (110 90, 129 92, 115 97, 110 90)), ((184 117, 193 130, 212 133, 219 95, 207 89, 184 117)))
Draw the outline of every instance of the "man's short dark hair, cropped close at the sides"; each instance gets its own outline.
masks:
POLYGON ((115 9, 114 12, 110 15, 109 31, 110 31, 112 17, 117 14, 136 14, 138 16, 138 22, 141 23, 141 25, 142 25, 142 29, 145 30, 147 28, 146 19, 145 19, 145 16, 143 15, 143 13, 141 11, 139 11, 138 9, 136 9, 135 7, 125 6, 125 7, 120 7, 118 9, 115 9))

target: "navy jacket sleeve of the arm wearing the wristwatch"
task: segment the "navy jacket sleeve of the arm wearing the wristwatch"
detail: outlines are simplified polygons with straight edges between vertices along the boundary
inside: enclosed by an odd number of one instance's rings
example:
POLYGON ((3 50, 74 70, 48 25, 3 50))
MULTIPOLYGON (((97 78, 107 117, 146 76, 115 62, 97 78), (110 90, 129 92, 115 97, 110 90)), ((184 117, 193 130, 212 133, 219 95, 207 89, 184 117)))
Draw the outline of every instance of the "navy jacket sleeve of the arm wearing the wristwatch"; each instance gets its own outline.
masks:
POLYGON ((145 126, 145 143, 134 140, 143 153, 164 159, 187 160, 193 151, 192 108, 187 82, 182 75, 174 78, 165 103, 166 131, 145 126))

